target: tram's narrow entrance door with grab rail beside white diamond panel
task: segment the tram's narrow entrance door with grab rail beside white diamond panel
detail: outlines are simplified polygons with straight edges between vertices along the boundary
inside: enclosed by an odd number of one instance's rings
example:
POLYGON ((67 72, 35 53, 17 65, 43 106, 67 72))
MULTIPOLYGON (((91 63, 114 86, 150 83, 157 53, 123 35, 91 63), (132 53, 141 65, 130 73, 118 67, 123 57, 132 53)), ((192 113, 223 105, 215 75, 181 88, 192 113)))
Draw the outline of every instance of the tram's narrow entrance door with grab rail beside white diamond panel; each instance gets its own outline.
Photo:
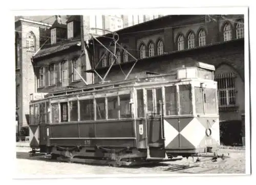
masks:
POLYGON ((162 118, 162 89, 146 89, 147 146, 151 157, 165 157, 162 118))

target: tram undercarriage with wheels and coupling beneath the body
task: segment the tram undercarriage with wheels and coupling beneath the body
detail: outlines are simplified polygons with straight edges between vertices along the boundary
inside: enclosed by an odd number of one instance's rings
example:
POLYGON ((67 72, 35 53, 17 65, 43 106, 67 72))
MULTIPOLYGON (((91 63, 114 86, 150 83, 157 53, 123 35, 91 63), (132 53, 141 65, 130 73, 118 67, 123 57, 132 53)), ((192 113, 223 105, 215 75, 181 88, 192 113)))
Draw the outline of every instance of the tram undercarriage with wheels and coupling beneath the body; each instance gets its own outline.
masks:
POLYGON ((46 159, 59 160, 68 163, 84 163, 92 165, 109 165, 114 167, 139 166, 157 164, 166 161, 182 160, 193 158, 193 162, 201 161, 201 157, 211 158, 216 161, 218 158, 224 160, 228 155, 218 154, 217 150, 210 150, 207 153, 172 153, 163 148, 137 149, 137 148, 105 148, 105 147, 43 147, 42 150, 33 149, 30 156, 44 155, 46 159), (47 151, 45 151, 47 149, 47 151), (161 154, 160 154, 161 153, 161 154), (159 155, 160 154, 160 155, 159 155), (158 157, 156 157, 158 156, 158 157), (161 157, 159 157, 161 156, 161 157), (194 160, 194 157, 197 159, 194 160))

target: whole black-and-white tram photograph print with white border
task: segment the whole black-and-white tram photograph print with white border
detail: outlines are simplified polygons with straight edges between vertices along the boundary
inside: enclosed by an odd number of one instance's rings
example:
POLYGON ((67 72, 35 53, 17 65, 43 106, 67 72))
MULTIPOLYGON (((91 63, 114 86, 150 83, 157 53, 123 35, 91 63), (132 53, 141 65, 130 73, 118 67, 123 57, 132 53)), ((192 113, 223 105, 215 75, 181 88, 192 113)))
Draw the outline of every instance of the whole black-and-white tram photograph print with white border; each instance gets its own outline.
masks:
POLYGON ((248 7, 13 15, 16 178, 251 173, 248 7))

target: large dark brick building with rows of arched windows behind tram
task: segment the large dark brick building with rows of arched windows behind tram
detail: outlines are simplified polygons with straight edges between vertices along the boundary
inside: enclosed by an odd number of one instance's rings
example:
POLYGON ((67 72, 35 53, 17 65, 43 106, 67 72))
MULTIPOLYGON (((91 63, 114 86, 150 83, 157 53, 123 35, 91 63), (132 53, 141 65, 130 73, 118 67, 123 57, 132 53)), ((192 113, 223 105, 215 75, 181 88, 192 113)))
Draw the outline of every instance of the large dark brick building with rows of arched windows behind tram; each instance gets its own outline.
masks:
MULTIPOLYGON (((243 15, 169 15, 117 31, 118 42, 138 59, 130 78, 145 72, 166 74, 195 62, 216 67, 221 123, 239 122, 245 110, 243 15)), ((98 38, 106 46, 109 38, 98 38)), ((96 41, 94 41, 96 42, 96 41)), ((114 53, 114 45, 109 47, 114 53)), ((111 53, 94 44, 94 70, 103 77, 113 61, 111 53)), ((116 48, 117 61, 105 81, 124 79, 136 60, 116 48)), ((95 75, 95 82, 100 78, 95 75)))

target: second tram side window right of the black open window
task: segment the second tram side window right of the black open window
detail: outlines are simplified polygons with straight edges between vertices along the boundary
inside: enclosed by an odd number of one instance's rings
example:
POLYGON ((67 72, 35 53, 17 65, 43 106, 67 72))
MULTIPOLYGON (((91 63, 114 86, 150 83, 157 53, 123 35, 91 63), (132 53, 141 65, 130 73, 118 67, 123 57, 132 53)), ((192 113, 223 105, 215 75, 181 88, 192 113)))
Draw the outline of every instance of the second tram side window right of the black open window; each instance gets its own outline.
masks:
POLYGON ((94 120, 94 104, 91 100, 80 100, 80 120, 94 120))

